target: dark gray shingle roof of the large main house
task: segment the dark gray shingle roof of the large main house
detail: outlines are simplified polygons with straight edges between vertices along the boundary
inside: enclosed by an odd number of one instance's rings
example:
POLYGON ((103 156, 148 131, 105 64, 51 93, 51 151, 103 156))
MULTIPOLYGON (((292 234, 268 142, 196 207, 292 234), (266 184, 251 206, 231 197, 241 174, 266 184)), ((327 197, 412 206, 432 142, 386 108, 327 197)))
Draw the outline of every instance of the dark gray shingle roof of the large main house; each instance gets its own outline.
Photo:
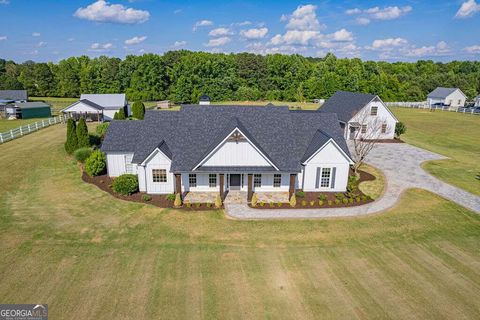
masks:
POLYGON ((251 106, 185 105, 178 112, 147 111, 143 121, 113 121, 102 150, 134 150, 132 161, 141 163, 163 142, 171 154, 171 170, 191 171, 235 127, 280 171, 300 171, 307 151, 314 152, 310 145, 326 141, 320 129, 349 155, 335 114, 251 106))

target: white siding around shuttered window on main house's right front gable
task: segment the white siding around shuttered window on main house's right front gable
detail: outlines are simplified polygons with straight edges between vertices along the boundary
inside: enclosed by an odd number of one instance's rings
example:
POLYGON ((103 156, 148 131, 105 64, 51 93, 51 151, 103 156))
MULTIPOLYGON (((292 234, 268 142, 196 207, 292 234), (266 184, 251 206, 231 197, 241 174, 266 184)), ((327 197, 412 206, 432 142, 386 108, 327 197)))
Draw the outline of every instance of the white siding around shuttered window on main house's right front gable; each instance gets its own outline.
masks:
POLYGON ((344 192, 347 189, 348 171, 350 165, 345 156, 338 150, 333 142, 325 145, 310 161, 305 165, 303 180, 304 191, 326 191, 326 192, 344 192), (316 188, 317 168, 336 168, 335 187, 316 188))

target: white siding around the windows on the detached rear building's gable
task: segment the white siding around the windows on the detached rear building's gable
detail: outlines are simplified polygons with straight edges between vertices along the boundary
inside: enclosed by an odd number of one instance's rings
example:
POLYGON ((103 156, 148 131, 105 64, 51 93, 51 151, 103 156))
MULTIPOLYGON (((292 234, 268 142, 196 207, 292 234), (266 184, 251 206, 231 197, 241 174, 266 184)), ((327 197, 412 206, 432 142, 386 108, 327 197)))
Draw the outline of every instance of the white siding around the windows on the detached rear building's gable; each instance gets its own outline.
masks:
MULTIPOLYGON (((392 116, 390 111, 387 109, 385 104, 382 101, 372 101, 369 104, 367 104, 362 110, 360 110, 349 122, 358 122, 360 124, 366 124, 367 125, 367 133, 366 137, 371 138, 372 137, 372 130, 374 128, 377 128, 378 131, 374 135, 375 139, 393 139, 395 135, 395 125, 397 123, 396 119, 392 116), (372 116, 370 115, 372 107, 377 107, 377 115, 372 116), (387 125, 387 131, 385 133, 381 133, 380 131, 380 126, 382 124, 387 125)), ((357 130, 361 130, 361 128, 358 128, 357 130)), ((350 134, 350 129, 346 128, 345 130, 345 139, 350 139, 349 134, 350 134)))

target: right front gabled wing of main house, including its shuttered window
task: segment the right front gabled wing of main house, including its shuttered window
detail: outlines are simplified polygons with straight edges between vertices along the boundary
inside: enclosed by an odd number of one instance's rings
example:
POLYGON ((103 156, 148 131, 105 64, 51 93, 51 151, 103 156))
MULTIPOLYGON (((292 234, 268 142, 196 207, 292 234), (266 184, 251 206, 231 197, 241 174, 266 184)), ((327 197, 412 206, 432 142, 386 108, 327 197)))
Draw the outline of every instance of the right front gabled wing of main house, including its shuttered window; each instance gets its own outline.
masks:
POLYGON ((299 187, 306 192, 345 192, 352 160, 329 140, 304 163, 299 187))

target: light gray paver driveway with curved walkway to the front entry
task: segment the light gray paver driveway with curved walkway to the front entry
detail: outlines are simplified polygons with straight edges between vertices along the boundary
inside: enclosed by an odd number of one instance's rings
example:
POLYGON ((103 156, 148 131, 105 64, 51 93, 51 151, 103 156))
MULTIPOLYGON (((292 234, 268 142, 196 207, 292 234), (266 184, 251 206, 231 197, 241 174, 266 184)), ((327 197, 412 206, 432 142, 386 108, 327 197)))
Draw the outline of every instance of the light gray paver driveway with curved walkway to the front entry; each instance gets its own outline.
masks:
POLYGON ((383 171, 387 185, 383 196, 375 202, 351 208, 328 209, 252 209, 245 204, 226 204, 225 212, 237 219, 295 219, 351 217, 384 211, 398 201, 402 191, 422 188, 454 201, 476 213, 480 213, 480 197, 438 180, 424 171, 420 165, 429 160, 445 159, 406 143, 378 144, 366 162, 383 171))

